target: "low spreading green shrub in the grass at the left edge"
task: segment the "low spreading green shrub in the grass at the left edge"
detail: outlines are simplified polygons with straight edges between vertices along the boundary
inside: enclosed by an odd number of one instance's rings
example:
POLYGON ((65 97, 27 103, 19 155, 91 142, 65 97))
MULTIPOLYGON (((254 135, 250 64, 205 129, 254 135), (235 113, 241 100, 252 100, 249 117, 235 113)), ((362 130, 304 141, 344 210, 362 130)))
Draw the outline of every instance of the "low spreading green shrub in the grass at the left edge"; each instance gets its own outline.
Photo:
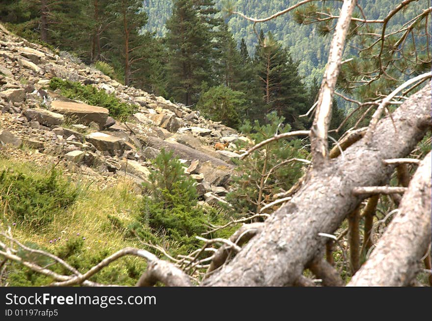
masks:
POLYGON ((6 212, 13 220, 32 228, 51 223, 77 196, 78 189, 54 169, 41 177, 7 169, 0 173, 0 198, 6 212))

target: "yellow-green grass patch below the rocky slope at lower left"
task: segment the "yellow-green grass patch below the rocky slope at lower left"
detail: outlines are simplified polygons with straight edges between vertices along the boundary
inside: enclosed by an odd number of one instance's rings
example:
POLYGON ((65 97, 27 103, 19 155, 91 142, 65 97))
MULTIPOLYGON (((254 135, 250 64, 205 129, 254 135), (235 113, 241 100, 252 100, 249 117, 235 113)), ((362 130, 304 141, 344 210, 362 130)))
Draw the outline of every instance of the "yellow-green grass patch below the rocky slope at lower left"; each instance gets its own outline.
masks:
MULTIPOLYGON (((0 171, 6 168, 15 173, 24 173, 36 180, 46 177, 48 170, 30 163, 0 158, 0 171)), ((87 271, 94 264, 124 247, 142 247, 136 238, 119 230, 108 218, 110 215, 127 225, 136 215, 140 196, 134 192, 135 187, 132 182, 121 180, 115 186, 104 189, 88 181, 74 184, 81 186, 75 203, 62 212, 58 212, 51 222, 36 231, 27 224, 15 221, 12 214, 5 210, 3 204, 0 208, 0 230, 10 226, 12 235, 19 241, 33 248, 40 248, 59 255, 81 272, 87 271)), ((36 259, 41 260, 42 258, 36 259)), ((33 258, 32 261, 36 259, 33 258)), ((66 273, 57 265, 51 268, 58 273, 66 273)), ((133 285, 139 277, 136 274, 141 273, 145 266, 146 263, 142 259, 122 258, 104 268, 91 280, 101 283, 133 285)), ((34 273, 16 263, 8 267, 7 282, 10 286, 40 286, 47 285, 51 281, 48 277, 34 273)))

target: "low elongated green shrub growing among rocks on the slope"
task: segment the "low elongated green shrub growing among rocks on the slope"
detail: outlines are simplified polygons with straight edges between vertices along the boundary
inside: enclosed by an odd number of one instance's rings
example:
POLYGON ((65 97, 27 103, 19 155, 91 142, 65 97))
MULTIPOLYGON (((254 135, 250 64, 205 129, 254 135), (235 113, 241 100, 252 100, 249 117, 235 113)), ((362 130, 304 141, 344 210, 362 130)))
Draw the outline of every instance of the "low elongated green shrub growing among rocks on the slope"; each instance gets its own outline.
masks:
POLYGON ((115 95, 108 94, 105 90, 99 90, 91 85, 81 85, 54 77, 50 81, 52 90, 59 89, 61 95, 70 99, 82 100, 87 104, 105 107, 109 115, 119 119, 126 119, 135 113, 137 106, 120 102, 115 95))

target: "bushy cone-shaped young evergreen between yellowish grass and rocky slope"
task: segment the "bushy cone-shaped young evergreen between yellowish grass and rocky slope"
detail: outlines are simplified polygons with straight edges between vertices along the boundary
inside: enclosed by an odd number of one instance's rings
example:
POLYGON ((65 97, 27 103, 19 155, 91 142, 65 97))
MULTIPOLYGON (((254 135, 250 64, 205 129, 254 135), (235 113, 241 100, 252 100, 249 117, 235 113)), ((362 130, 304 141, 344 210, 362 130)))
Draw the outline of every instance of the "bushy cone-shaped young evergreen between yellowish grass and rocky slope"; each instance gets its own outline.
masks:
POLYGON ((206 231, 209 215, 197 205, 195 181, 184 170, 172 152, 162 149, 153 161, 156 171, 149 176, 141 211, 130 228, 143 240, 159 243, 165 234, 177 243, 178 251, 190 250, 198 242, 195 235, 206 231))

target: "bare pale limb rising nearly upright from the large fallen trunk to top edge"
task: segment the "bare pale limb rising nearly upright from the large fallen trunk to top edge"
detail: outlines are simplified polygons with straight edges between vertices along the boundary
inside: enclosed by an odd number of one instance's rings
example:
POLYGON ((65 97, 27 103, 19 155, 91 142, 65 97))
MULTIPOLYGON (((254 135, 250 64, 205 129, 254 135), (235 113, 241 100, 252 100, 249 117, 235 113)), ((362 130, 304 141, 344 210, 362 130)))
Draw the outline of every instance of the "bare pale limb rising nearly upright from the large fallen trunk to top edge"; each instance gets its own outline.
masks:
POLYGON ((328 158, 327 132, 331 119, 333 93, 341 67, 345 39, 350 28, 352 11, 354 10, 355 3, 356 0, 344 1, 333 38, 331 39, 327 66, 324 71, 323 82, 321 83, 318 95, 315 118, 309 135, 312 162, 315 168, 322 167, 328 158))

